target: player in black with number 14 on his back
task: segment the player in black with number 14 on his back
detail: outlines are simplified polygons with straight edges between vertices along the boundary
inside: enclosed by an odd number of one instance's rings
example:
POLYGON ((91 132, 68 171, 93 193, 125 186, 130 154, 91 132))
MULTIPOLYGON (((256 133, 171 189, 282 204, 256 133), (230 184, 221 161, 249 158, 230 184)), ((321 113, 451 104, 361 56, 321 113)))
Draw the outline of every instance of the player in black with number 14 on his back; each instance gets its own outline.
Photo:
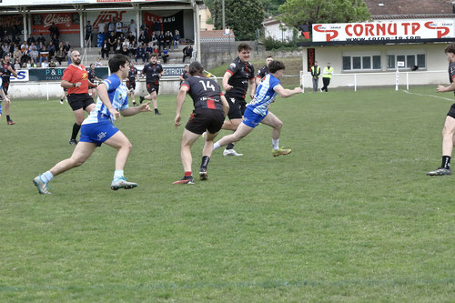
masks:
POLYGON ((183 81, 177 95, 175 126, 180 126, 180 112, 187 94, 193 99, 195 110, 189 117, 182 136, 180 157, 185 176, 173 184, 194 183, 191 170, 191 146, 204 132, 206 132, 206 144, 202 150, 199 178, 207 180, 207 165, 213 152, 213 140, 223 126, 225 116, 229 111, 227 100, 221 93, 217 81, 204 76, 204 66, 199 62, 193 62, 188 69, 190 76, 183 81))

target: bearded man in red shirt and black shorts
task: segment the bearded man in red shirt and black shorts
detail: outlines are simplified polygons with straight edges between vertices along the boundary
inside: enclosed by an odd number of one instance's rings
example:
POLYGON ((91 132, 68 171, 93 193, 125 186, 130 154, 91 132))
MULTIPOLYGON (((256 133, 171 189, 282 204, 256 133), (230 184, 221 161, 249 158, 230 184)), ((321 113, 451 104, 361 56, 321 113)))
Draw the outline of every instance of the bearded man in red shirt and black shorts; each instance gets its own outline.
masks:
POLYGON ((90 114, 95 108, 93 98, 88 95, 88 87, 96 87, 96 84, 88 80, 86 67, 81 65, 81 55, 78 51, 75 50, 71 53, 71 61, 71 65, 66 68, 63 74, 60 86, 68 89, 66 98, 76 117, 73 132, 68 142, 70 145, 76 145, 76 136, 79 133, 82 121, 84 121, 84 110, 90 114))

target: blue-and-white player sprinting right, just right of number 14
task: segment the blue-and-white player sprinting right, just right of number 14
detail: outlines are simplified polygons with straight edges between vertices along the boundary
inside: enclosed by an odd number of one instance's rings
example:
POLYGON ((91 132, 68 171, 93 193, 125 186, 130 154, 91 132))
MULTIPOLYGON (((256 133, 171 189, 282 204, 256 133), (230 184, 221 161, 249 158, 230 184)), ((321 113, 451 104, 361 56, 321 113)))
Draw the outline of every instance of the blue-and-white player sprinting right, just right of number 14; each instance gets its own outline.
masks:
POLYGON ((283 76, 285 66, 280 61, 272 61, 268 65, 269 74, 259 83, 256 89, 253 100, 247 105, 247 109, 243 115, 242 123, 238 126, 236 132, 232 135, 223 136, 214 145, 214 149, 221 146, 226 146, 229 143, 237 142, 242 137, 247 136, 259 123, 272 126, 272 156, 278 157, 280 155, 290 154, 290 149, 280 148, 278 146, 279 133, 283 122, 268 111, 268 106, 275 100, 277 95, 282 97, 293 96, 301 93, 300 87, 292 90, 283 88, 279 80, 283 76))

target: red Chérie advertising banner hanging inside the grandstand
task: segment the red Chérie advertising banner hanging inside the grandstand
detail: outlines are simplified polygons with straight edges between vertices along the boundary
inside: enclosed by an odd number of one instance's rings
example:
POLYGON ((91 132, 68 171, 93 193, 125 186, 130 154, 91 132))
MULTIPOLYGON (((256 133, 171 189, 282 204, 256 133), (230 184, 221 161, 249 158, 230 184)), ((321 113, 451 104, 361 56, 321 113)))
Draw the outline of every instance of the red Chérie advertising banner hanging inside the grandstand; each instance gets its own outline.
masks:
POLYGON ((56 24, 60 35, 79 34, 79 14, 48 13, 32 15, 32 35, 49 35, 49 27, 56 24))

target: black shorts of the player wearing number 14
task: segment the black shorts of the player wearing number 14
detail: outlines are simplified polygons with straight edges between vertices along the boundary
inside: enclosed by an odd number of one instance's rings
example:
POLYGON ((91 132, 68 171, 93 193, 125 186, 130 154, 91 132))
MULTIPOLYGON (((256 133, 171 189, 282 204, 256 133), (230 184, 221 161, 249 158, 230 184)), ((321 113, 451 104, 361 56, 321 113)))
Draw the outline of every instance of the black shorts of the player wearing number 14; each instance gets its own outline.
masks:
POLYGON ((216 134, 223 126, 225 116, 223 111, 217 109, 198 108, 189 116, 187 130, 197 135, 202 135, 205 131, 216 134))

